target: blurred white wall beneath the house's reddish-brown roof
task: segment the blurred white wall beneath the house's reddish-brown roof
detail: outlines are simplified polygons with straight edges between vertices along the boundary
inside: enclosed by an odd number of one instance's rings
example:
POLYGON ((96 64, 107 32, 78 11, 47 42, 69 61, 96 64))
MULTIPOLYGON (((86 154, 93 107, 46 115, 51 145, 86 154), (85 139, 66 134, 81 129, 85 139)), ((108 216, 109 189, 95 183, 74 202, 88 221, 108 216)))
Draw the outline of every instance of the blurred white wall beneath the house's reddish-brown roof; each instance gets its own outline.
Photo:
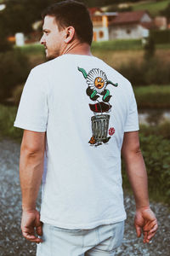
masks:
MULTIPOLYGON (((138 39, 144 37, 145 29, 140 25, 110 26, 109 38, 112 39, 138 39)), ((145 32, 146 33, 146 32, 145 32)))

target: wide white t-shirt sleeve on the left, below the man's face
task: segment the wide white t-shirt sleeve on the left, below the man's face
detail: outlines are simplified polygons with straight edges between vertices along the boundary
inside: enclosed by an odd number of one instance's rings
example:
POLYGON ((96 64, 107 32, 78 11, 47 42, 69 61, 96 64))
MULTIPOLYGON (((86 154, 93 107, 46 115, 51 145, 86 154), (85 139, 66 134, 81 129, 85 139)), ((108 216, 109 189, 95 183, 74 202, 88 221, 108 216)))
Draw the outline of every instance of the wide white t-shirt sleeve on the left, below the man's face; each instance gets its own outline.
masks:
POLYGON ((46 131, 48 123, 48 80, 33 68, 26 80, 14 126, 30 131, 46 131))

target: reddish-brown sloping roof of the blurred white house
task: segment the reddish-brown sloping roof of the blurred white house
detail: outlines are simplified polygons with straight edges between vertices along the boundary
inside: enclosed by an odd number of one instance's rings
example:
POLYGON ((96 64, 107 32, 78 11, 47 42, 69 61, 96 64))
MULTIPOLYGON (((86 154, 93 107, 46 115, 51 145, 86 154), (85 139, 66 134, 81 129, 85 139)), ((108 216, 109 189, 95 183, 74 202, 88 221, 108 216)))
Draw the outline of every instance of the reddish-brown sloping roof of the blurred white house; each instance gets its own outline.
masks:
POLYGON ((127 23, 139 23, 142 17, 148 12, 145 10, 133 11, 133 12, 122 12, 111 21, 111 25, 127 24, 127 23))

